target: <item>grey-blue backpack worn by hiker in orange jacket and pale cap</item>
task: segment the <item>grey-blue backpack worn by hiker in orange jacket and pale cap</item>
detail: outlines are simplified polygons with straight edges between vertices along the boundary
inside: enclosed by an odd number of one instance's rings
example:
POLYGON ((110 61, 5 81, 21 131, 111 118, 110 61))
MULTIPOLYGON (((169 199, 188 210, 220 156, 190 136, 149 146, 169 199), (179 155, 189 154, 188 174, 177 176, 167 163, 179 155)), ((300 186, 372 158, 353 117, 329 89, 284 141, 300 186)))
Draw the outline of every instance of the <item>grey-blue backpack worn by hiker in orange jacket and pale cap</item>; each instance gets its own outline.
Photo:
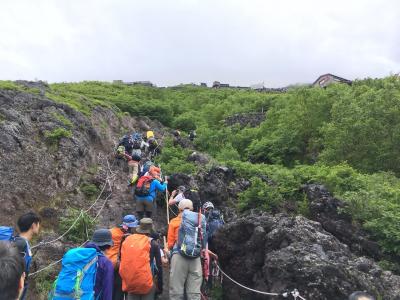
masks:
MULTIPOLYGON (((201 227, 204 238, 206 235, 204 215, 201 215, 201 227)), ((201 240, 199 229, 199 214, 187 209, 184 210, 178 233, 178 251, 182 256, 188 258, 200 257, 204 241, 201 240)))

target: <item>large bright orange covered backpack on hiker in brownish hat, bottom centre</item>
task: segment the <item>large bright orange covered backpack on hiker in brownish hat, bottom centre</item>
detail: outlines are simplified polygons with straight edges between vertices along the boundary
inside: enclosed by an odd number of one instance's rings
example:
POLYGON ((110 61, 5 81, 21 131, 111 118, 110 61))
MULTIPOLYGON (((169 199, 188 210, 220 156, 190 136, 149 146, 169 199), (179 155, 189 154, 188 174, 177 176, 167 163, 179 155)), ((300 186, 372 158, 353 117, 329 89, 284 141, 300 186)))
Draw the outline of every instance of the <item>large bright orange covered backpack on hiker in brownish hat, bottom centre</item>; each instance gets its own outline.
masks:
POLYGON ((150 243, 149 237, 143 234, 130 235, 123 242, 119 275, 124 292, 144 295, 153 288, 150 243))

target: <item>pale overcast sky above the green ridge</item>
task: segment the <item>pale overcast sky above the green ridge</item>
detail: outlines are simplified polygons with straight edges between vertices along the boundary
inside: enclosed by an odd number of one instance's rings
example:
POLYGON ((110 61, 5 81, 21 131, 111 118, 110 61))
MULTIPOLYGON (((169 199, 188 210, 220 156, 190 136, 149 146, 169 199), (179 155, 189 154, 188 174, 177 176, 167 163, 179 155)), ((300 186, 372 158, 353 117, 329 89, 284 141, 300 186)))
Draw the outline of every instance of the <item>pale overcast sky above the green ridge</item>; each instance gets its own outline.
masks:
POLYGON ((399 71, 398 0, 0 2, 0 79, 277 87, 399 71))

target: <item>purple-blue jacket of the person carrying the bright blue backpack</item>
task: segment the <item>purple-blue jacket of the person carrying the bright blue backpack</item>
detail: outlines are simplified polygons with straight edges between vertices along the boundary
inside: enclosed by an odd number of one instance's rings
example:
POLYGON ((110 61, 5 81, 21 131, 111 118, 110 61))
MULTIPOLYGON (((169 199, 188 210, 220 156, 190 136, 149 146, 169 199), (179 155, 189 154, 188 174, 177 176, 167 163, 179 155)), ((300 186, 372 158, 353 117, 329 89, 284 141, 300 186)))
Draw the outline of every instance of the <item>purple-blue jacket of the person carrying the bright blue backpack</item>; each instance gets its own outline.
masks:
MULTIPOLYGON (((96 244, 89 242, 85 248, 95 248, 97 252, 102 253, 96 244)), ((94 298, 99 300, 112 300, 113 285, 114 285, 114 267, 111 261, 103 254, 99 255, 98 267, 96 271, 96 283, 94 286, 94 298)))

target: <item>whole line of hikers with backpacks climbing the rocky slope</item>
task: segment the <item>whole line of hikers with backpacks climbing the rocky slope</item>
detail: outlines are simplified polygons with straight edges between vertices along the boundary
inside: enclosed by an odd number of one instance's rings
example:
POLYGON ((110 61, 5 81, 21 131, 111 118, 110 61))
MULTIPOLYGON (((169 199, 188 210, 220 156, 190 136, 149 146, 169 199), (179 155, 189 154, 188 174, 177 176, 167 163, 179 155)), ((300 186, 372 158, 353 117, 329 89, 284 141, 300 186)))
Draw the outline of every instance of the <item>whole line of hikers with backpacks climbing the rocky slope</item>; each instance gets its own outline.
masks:
MULTIPOLYGON (((136 215, 125 215, 111 229, 95 230, 82 247, 68 250, 48 299, 153 300, 163 293, 163 268, 168 266, 169 299, 207 299, 205 291, 218 276, 214 238, 224 225, 222 213, 209 201, 194 207, 185 196, 187 187, 178 186, 167 198, 167 210, 177 214, 168 218, 167 238, 161 237, 152 213, 157 191, 168 191, 168 182, 149 158, 143 161, 142 150, 155 151, 149 150, 153 132, 146 139, 137 137, 134 146, 133 135, 121 139, 117 156, 129 166, 136 215)), ((0 226, 0 300, 26 299, 30 242, 40 222, 29 212, 17 221, 18 235, 12 227, 0 226)), ((374 299, 365 295, 357 292, 349 299, 374 299)))

